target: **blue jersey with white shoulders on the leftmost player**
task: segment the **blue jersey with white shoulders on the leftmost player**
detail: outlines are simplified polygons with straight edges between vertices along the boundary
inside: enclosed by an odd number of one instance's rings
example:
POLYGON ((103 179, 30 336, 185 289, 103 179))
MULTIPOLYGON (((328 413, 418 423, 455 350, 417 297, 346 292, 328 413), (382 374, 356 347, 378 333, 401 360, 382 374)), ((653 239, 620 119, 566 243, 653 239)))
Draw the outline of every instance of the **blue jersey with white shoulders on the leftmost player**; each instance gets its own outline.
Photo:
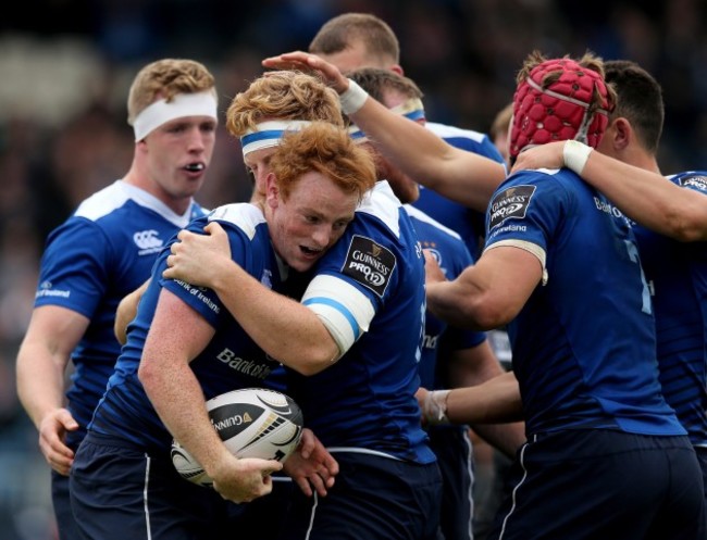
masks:
POLYGON ((35 307, 59 305, 90 322, 72 353, 67 406, 80 426, 66 434, 75 447, 106 390, 121 346, 113 334, 119 302, 150 276, 158 253, 189 219, 203 215, 193 202, 175 214, 150 193, 116 180, 83 201, 48 237, 35 307))

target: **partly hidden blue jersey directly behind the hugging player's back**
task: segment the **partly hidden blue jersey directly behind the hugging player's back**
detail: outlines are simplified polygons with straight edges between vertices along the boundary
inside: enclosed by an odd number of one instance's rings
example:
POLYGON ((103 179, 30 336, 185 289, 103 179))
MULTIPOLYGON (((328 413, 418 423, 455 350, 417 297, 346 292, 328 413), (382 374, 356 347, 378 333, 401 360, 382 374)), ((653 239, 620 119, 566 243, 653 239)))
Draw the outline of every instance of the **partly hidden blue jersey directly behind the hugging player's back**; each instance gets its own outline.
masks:
MULTIPOLYGON (((432 252, 447 279, 455 279, 467 266, 473 264, 467 246, 457 233, 414 206, 406 204, 404 208, 418 233, 420 244, 432 252)), ((446 350, 455 351, 476 347, 485 339, 485 332, 450 327, 446 322, 427 312, 420 361, 420 386, 430 390, 446 388, 444 381, 437 378, 441 340, 445 341, 446 350)))

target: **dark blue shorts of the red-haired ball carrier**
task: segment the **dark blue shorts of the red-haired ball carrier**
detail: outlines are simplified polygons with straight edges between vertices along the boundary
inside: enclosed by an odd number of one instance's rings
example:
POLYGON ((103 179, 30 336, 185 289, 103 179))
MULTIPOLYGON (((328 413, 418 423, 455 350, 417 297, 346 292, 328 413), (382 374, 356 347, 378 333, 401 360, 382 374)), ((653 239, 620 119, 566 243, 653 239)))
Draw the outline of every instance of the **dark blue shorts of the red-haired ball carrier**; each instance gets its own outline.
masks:
POLYGON ((84 539, 234 538, 233 503, 182 478, 166 454, 89 432, 72 467, 71 505, 84 539))

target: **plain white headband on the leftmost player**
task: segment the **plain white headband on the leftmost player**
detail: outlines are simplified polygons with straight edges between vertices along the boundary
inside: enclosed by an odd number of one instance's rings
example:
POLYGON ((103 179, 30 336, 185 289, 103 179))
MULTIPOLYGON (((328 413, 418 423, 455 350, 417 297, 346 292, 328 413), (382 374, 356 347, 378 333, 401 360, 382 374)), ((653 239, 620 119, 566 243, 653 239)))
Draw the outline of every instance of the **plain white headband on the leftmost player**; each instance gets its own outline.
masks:
POLYGON ((212 92, 177 93, 169 103, 163 99, 151 103, 133 122, 135 141, 142 140, 162 124, 184 116, 211 116, 218 120, 216 98, 212 92))

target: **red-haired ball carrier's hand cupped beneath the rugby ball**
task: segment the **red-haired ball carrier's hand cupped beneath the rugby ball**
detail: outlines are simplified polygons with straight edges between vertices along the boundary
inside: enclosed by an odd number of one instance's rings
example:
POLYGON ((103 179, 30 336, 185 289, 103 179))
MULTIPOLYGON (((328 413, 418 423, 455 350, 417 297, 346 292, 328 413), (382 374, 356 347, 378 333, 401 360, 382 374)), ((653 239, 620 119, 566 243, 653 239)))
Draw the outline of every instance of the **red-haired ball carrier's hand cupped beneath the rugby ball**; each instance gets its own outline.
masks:
POLYGON ((210 473, 209 476, 213 479, 213 489, 222 498, 244 503, 270 493, 273 490, 271 475, 282 468, 283 464, 276 460, 232 456, 215 474, 210 473))

